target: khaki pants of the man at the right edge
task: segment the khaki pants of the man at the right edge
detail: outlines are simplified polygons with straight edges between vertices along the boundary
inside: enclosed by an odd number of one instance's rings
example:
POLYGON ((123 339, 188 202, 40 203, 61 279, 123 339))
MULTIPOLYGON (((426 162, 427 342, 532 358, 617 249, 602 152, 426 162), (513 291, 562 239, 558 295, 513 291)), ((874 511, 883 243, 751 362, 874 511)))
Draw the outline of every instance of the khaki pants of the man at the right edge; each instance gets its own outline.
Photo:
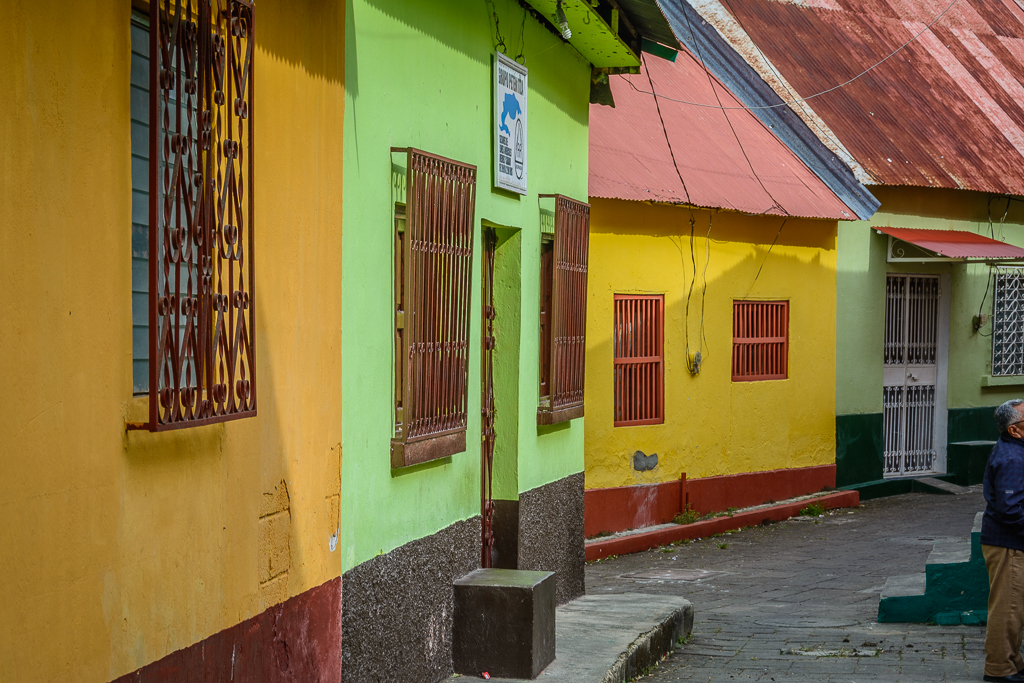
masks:
POLYGON ((988 567, 988 626, 985 676, 1010 676, 1024 669, 1024 551, 982 546, 988 567))

